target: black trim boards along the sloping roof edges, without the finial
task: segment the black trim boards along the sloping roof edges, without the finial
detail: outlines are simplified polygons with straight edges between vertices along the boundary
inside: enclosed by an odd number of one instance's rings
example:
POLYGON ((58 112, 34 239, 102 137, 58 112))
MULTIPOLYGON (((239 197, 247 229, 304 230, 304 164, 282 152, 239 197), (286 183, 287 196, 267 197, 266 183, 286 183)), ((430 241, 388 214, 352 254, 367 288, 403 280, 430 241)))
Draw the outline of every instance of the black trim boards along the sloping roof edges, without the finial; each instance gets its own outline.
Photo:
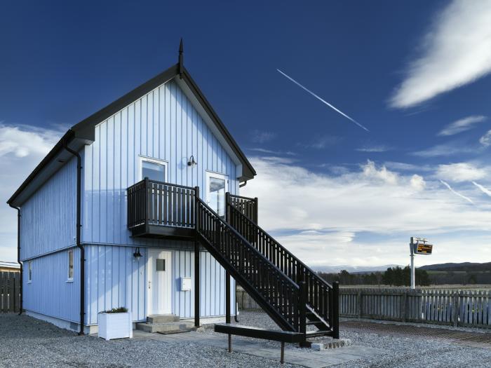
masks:
MULTIPOLYGON (((240 179, 243 181, 248 179, 253 179, 253 177, 255 177, 256 175, 256 171, 254 170, 253 165, 251 165, 249 160, 245 157, 245 154, 238 146, 235 139, 231 136, 229 130, 227 130, 224 123, 222 123, 222 121, 218 117, 213 107, 211 107, 210 102, 206 100, 206 97, 203 95, 203 93, 199 89, 194 79, 191 78, 189 71, 187 71, 187 69, 184 67, 182 68, 184 69, 183 77, 187 85, 194 93, 194 95, 196 95, 197 99, 199 100, 203 108, 210 115, 215 125, 217 125, 217 128, 220 131, 220 133, 225 137, 225 140, 231 146, 231 149, 235 152, 238 159, 241 161, 243 173, 240 179)), ((106 107, 103 107, 99 111, 88 116, 88 118, 85 118, 79 123, 73 125, 72 128, 70 128, 65 133, 65 135, 63 135, 60 141, 57 144, 55 144, 53 149, 51 149, 51 151, 46 155, 46 157, 43 158, 43 161, 41 161, 41 163, 39 163, 39 165, 36 166, 36 168, 31 172, 31 174, 29 174, 27 179, 25 179, 25 181, 19 186, 19 188, 15 191, 15 193, 13 193, 13 195, 7 201, 7 203, 8 204, 13 203, 15 198, 17 198, 17 196, 19 196, 20 193, 22 193, 22 191, 30 184, 30 182, 32 182, 32 180, 36 177, 36 175, 38 175, 39 172, 41 172, 41 170, 43 170, 43 168, 46 165, 48 165, 48 163, 50 163, 51 160, 63 149, 64 142, 66 142, 66 144, 69 144, 69 142, 71 142, 72 139, 74 138, 83 139, 87 143, 93 142, 95 139, 95 130, 94 130, 95 125, 97 125, 101 121, 105 121, 105 119, 116 114, 116 112, 128 106, 128 104, 137 100, 142 95, 149 93, 149 91, 153 90, 154 88, 160 86, 163 83, 166 83, 166 81, 170 81, 170 79, 173 79, 175 76, 179 75, 179 71, 180 71, 180 64, 179 63, 174 64, 172 67, 154 76, 154 78, 150 79, 149 81, 143 83, 137 88, 126 93, 126 95, 123 95, 123 97, 120 97, 118 100, 115 100, 114 102, 108 104, 106 107)))

